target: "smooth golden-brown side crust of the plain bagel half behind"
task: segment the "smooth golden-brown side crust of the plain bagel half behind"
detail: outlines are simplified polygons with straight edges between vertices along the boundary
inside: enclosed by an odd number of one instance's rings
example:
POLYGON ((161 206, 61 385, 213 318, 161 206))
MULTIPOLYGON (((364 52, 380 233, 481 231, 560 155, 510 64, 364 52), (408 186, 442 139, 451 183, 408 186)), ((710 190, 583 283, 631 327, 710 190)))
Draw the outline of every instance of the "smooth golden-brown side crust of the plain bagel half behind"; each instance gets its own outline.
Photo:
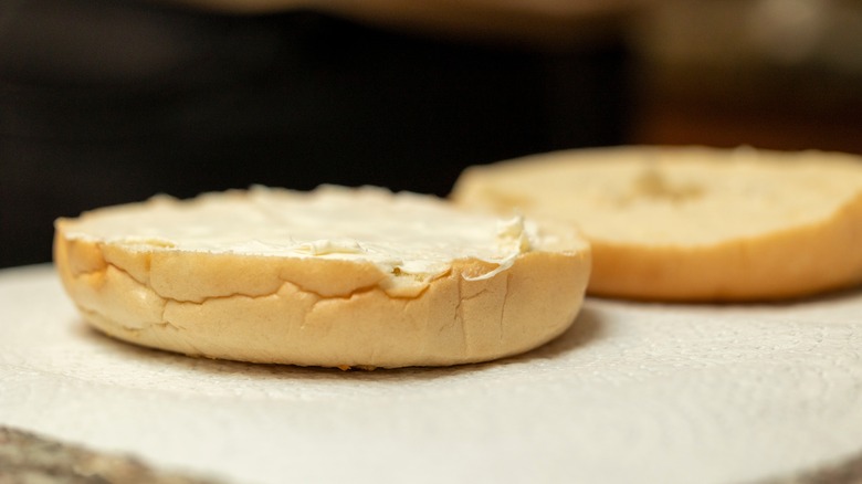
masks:
POLYGON ((597 296, 645 301, 777 301, 862 283, 862 196, 829 220, 712 246, 592 241, 597 296))

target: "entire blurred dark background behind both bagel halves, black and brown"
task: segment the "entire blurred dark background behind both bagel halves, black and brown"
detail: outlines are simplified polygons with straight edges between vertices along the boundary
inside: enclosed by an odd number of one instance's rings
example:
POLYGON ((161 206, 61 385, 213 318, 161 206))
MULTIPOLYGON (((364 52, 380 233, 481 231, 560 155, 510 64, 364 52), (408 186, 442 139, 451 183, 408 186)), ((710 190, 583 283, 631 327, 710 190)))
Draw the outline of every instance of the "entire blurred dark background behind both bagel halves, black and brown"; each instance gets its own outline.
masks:
POLYGON ((50 261, 57 217, 157 192, 445 196, 470 165, 624 144, 862 154, 862 1, 619 3, 465 35, 308 9, 4 0, 0 266, 50 261))

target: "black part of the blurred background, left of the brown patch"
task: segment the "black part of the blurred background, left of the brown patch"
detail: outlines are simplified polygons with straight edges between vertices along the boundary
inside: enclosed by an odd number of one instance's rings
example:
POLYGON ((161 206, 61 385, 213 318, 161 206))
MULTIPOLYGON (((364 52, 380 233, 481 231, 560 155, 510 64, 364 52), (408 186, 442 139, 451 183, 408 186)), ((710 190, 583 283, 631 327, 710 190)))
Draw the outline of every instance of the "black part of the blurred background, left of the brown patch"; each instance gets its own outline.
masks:
MULTIPOLYGON (((9 12, 7 12, 9 14, 9 12)), ((0 33, 0 265, 82 210, 251 183, 444 196, 466 166, 626 139, 628 50, 450 42, 313 12, 21 0, 0 33)))

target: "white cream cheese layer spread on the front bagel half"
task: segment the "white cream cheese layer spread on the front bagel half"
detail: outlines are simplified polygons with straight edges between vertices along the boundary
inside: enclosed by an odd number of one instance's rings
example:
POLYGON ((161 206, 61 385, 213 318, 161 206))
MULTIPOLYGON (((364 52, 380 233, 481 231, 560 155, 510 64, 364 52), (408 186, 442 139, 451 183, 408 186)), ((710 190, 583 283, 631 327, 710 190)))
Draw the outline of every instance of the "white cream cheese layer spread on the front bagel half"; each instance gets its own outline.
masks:
POLYGON ((519 215, 498 220, 433 197, 368 187, 254 187, 189 201, 157 197, 90 212, 67 236, 154 251, 364 261, 419 278, 442 274, 462 259, 495 264, 476 278, 491 277, 539 242, 535 225, 519 215))

